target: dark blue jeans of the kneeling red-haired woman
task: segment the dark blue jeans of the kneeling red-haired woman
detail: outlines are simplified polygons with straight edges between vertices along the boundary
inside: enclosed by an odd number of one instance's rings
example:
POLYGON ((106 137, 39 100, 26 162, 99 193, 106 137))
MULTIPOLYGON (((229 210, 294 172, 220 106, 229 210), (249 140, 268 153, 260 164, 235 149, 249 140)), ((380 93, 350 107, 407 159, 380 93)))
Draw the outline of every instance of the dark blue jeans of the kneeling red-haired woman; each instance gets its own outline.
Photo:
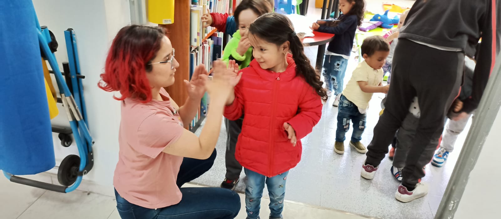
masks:
MULTIPOLYGON (((177 186, 198 178, 212 167, 215 150, 206 160, 184 158, 177 186)), ((233 219, 240 211, 240 198, 222 188, 180 188, 181 202, 160 209, 148 209, 129 203, 115 190, 117 209, 122 219, 233 219)))

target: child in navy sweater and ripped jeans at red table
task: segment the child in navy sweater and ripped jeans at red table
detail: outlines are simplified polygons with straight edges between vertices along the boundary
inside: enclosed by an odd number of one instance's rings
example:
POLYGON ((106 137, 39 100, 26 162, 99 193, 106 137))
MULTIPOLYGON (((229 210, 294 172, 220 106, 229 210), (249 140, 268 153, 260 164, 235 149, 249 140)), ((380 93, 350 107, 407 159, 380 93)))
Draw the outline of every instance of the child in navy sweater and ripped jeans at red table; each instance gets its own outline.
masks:
POLYGON ((336 95, 333 106, 338 106, 343 91, 343 79, 355 31, 364 18, 364 5, 364 0, 339 0, 339 8, 343 15, 338 18, 341 22, 337 26, 320 26, 318 23, 313 23, 311 27, 319 32, 335 34, 325 52, 323 71, 327 95, 330 96, 333 90, 336 95))

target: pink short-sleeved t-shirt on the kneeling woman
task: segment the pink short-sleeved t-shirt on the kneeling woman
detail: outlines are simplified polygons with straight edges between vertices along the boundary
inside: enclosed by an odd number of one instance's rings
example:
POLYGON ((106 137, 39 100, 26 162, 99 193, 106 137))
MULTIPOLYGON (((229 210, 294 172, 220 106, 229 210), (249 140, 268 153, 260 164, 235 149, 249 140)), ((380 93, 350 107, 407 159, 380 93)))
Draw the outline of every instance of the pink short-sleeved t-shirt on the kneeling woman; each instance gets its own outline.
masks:
POLYGON ((160 94, 166 101, 122 101, 120 151, 113 178, 121 197, 149 209, 175 205, 182 197, 176 180, 183 157, 162 151, 179 139, 184 128, 169 94, 163 88, 160 94))

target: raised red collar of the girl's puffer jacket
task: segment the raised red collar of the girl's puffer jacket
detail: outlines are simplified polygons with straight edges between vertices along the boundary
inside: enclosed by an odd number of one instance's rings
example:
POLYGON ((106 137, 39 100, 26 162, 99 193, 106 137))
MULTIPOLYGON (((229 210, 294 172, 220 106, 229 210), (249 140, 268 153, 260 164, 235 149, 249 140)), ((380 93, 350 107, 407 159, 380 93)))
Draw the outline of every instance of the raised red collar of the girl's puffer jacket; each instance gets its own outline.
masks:
POLYGON ((292 59, 292 54, 287 54, 287 63, 288 66, 284 72, 274 72, 268 69, 262 69, 256 59, 252 60, 249 66, 253 68, 261 78, 267 81, 291 81, 296 77, 296 63, 294 59, 292 59))

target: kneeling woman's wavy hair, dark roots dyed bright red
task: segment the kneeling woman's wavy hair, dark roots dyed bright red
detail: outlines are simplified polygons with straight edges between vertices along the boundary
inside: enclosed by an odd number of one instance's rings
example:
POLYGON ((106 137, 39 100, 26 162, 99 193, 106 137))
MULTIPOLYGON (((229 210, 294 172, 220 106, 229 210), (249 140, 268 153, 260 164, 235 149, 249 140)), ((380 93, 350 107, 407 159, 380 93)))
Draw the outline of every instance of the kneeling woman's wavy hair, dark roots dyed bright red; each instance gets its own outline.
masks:
POLYGON ((152 99, 146 72, 160 49, 165 31, 160 27, 129 25, 118 31, 111 44, 104 73, 98 86, 105 91, 120 91, 121 97, 138 99, 143 103, 152 99))

